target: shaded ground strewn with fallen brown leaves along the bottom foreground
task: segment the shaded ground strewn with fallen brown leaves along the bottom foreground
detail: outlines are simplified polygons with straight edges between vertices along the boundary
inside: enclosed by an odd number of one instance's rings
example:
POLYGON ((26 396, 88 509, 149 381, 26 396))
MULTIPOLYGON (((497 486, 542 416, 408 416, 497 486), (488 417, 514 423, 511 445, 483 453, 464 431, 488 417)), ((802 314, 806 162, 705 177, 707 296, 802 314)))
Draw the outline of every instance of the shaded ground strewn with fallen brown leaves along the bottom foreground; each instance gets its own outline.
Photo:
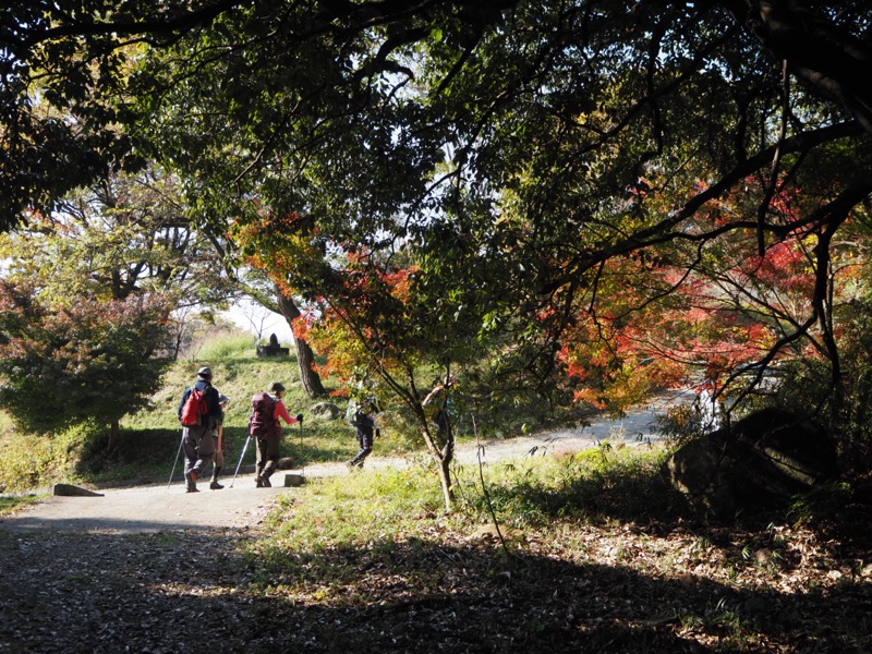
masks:
POLYGON ((0 652, 872 651, 862 543, 441 520, 305 560, 244 530, 0 533, 0 652))

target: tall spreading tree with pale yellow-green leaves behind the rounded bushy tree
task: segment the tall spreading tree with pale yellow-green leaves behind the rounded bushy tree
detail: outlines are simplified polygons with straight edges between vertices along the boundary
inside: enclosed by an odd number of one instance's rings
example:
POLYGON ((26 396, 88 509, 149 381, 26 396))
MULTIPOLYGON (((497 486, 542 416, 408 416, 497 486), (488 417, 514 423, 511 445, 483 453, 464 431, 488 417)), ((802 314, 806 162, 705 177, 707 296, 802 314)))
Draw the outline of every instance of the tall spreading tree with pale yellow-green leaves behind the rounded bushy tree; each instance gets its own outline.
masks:
POLYGON ((221 305, 239 292, 226 274, 220 241, 187 216, 179 179, 152 166, 107 174, 60 199, 51 214, 29 215, 0 234, 0 255, 3 276, 29 280, 44 301, 154 293, 167 295, 178 315, 221 305))

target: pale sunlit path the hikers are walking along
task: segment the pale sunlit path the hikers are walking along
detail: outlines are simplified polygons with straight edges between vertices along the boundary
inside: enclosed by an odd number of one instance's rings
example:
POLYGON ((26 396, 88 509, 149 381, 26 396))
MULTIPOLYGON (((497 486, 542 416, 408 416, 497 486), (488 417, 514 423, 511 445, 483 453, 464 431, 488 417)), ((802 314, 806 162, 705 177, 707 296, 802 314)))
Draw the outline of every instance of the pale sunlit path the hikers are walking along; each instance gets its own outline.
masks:
MULTIPOLYGON (((623 441, 639 445, 656 439, 653 431, 656 415, 663 414, 669 403, 686 401, 687 393, 663 396, 643 409, 631 411, 623 420, 603 420, 583 429, 543 432, 541 434, 485 443, 483 460, 494 462, 519 456, 550 456, 583 451, 598 443, 623 441)), ((461 464, 477 462, 479 448, 459 447, 457 460, 461 464)), ((373 455, 366 461, 370 469, 401 468, 408 461, 373 455)), ((290 471, 299 473, 300 471, 290 471)), ((348 474, 341 463, 308 465, 303 471, 306 477, 348 474)), ((256 488, 252 474, 239 475, 230 487, 230 480, 222 480, 225 488, 208 491, 201 483, 201 493, 184 493, 181 480, 168 488, 167 484, 110 488, 99 491, 100 496, 48 497, 21 510, 15 516, 0 520, 0 531, 31 532, 50 530, 59 532, 99 532, 116 534, 156 533, 172 530, 256 529, 268 513, 276 498, 286 493, 299 492, 284 487, 284 472, 274 475, 272 488, 256 488)))

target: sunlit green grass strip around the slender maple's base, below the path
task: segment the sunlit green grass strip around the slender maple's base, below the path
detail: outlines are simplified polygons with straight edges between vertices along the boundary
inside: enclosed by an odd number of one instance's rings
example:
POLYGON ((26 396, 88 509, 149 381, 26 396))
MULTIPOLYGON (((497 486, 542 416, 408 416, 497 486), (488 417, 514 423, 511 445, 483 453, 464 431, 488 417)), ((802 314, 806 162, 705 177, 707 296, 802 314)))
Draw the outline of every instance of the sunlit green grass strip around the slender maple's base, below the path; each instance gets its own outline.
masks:
POLYGON ((387 553, 398 543, 482 528, 512 540, 525 529, 548 531, 566 521, 646 521, 668 510, 670 494, 657 473, 664 456, 626 448, 517 459, 488 464, 482 474, 475 467, 457 468, 456 510, 449 514, 426 465, 314 479, 302 495, 279 496, 269 535, 252 554, 266 566, 267 579, 280 571, 282 579, 305 585, 344 578, 344 566, 320 559, 328 552, 387 553))

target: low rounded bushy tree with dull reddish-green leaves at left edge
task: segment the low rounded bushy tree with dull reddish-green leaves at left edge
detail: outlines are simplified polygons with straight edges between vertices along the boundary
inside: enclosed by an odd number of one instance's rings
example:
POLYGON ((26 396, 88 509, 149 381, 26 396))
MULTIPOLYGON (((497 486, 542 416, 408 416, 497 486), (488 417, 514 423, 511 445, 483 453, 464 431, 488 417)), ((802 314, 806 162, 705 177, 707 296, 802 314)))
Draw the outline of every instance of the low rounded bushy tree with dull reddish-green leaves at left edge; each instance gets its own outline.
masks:
POLYGON ((168 335, 159 300, 44 306, 4 282, 0 305, 0 405, 22 429, 113 425, 160 387, 168 335))

